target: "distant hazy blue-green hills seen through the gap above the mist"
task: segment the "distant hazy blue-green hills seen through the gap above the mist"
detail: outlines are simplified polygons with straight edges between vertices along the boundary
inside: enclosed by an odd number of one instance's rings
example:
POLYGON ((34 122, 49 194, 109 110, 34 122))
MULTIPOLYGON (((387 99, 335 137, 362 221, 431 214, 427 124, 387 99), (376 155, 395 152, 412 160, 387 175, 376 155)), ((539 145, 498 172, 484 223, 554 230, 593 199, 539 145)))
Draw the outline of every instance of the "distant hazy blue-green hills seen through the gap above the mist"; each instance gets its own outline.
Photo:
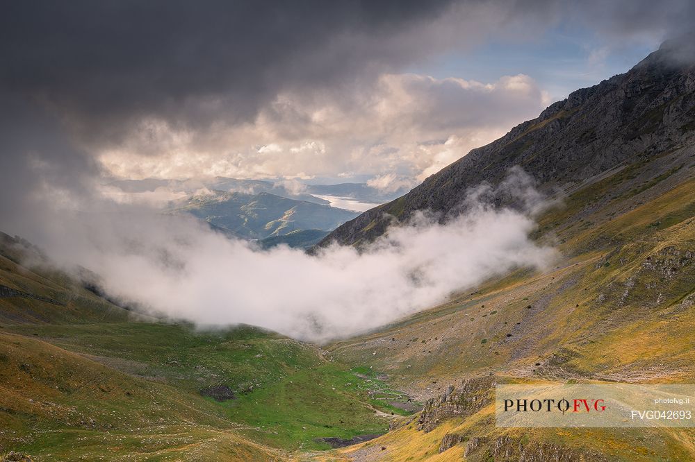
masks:
POLYGON ((293 182, 286 185, 284 182, 222 176, 188 180, 114 180, 109 185, 128 194, 158 189, 184 193, 187 198, 172 200, 167 209, 193 214, 229 237, 268 238, 261 243, 264 248, 280 243, 300 248, 313 246, 359 214, 339 206, 361 203, 361 208, 355 208, 364 210, 372 203, 384 203, 403 192, 386 193, 366 183, 303 185, 293 182), (330 207, 336 199, 340 199, 334 204, 338 207, 330 207))

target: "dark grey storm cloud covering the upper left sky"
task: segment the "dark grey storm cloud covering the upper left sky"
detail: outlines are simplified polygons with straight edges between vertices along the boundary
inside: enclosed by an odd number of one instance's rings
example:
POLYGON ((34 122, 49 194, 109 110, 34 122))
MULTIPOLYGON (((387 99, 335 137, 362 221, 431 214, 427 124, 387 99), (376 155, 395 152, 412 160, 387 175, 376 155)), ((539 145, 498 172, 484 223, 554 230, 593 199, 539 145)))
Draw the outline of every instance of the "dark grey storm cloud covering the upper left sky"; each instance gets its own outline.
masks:
POLYGON ((432 38, 404 35, 447 3, 6 2, 0 85, 54 106, 82 135, 147 116, 242 121, 283 89, 411 62, 432 38))

